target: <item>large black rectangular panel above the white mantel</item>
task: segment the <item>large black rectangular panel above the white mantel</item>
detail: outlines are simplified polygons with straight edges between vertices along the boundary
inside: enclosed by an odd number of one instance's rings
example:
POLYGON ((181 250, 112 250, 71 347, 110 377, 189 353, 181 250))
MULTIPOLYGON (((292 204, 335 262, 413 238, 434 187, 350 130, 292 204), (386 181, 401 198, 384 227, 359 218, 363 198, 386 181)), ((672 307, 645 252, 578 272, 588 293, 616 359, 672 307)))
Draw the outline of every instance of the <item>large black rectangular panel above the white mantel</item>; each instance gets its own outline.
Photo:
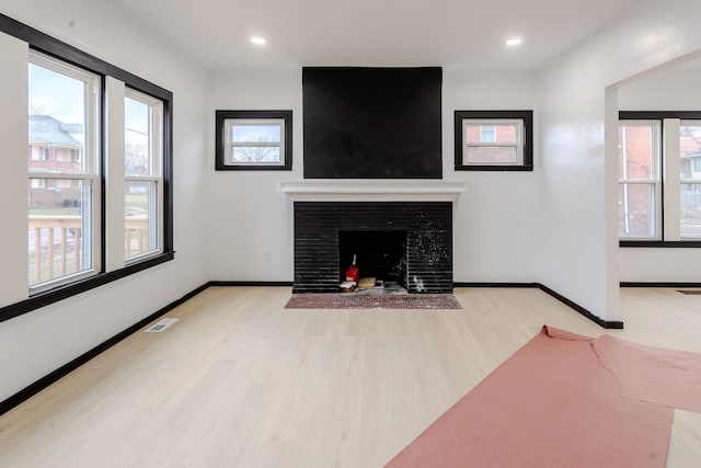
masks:
POLYGON ((304 67, 304 179, 441 179, 440 67, 304 67))

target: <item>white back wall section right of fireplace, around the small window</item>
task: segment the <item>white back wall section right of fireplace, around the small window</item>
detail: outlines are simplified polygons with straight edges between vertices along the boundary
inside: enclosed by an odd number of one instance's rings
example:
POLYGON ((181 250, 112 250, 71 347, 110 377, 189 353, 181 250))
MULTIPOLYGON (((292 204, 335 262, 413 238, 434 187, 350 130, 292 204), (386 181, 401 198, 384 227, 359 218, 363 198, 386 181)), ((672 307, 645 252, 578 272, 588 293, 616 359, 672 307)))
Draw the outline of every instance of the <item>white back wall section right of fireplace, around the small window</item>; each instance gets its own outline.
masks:
POLYGON ((444 178, 462 180, 456 204, 456 282, 533 283, 538 258, 537 186, 542 170, 538 141, 538 94, 532 73, 444 69, 444 178), (533 172, 455 171, 453 112, 532 110, 533 172))

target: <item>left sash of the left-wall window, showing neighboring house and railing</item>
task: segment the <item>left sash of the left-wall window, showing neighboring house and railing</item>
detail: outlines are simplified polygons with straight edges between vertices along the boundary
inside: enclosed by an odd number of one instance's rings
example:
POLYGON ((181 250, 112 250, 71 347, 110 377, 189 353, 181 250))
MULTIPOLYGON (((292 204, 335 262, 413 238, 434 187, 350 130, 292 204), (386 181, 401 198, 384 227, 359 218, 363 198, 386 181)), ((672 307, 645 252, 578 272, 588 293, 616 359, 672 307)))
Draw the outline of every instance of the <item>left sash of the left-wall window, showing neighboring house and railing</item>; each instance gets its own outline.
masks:
POLYGON ((101 78, 32 53, 28 64, 28 284, 97 270, 101 78))

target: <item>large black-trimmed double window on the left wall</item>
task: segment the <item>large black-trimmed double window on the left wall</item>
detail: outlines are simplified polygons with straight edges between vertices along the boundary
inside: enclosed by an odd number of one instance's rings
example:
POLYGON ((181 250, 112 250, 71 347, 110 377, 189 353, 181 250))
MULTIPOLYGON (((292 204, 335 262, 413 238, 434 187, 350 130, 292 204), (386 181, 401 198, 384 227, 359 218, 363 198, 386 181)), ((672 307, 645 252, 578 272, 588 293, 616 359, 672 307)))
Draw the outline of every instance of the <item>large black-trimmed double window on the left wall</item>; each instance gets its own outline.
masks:
POLYGON ((3 321, 173 260, 173 94, 2 14, 0 33, 28 50, 28 251, 3 265, 26 296, 3 321))

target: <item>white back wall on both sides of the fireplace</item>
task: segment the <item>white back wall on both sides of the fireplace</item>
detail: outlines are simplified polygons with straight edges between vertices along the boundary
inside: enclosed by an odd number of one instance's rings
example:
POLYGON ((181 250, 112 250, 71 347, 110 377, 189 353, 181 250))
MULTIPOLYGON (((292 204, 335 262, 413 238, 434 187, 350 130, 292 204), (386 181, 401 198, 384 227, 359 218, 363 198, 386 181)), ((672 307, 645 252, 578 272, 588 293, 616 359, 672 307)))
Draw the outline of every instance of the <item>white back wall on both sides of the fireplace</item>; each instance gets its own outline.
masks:
MULTIPOLYGON (((457 172, 453 111, 529 110, 535 75, 444 69, 444 179, 462 180, 456 205, 455 281, 531 283, 536 276, 536 183, 531 172, 457 172)), ((217 281, 292 281, 292 205, 277 181, 302 180, 301 67, 212 75, 215 110, 292 110, 292 171, 214 171, 208 153, 209 264, 217 281), (271 260, 265 261, 265 252, 271 260)), ((538 151, 536 147, 536 151, 538 151)), ((538 171, 538 161, 536 161, 538 171)))

